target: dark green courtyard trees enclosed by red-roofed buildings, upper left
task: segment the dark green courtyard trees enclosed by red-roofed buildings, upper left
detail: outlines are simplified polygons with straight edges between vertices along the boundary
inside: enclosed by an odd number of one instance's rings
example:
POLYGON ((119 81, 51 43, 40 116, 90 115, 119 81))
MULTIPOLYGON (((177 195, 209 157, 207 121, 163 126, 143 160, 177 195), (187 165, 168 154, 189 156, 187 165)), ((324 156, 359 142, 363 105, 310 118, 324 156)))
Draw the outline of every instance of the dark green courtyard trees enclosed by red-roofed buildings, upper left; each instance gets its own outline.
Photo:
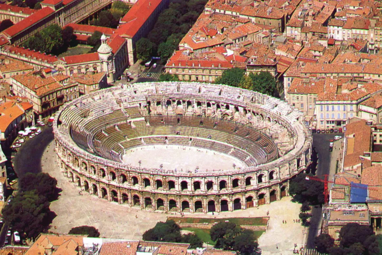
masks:
POLYGON ((74 44, 76 44, 76 36, 72 27, 67 26, 62 29, 53 24, 29 37, 24 41, 23 46, 46 54, 59 55, 74 44))

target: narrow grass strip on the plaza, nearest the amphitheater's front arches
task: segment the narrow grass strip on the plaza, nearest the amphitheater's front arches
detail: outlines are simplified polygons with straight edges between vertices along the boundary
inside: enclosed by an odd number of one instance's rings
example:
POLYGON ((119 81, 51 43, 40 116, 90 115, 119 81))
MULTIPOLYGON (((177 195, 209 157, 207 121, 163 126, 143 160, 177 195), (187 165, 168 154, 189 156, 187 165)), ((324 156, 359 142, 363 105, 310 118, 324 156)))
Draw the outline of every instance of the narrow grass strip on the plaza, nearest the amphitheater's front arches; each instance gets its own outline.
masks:
POLYGON ((219 221, 230 221, 236 225, 252 225, 252 226, 266 226, 268 218, 266 217, 255 217, 255 218, 221 218, 221 219, 209 219, 209 218, 188 218, 188 217, 168 217, 167 219, 173 220, 175 222, 187 222, 187 223, 213 223, 219 221))

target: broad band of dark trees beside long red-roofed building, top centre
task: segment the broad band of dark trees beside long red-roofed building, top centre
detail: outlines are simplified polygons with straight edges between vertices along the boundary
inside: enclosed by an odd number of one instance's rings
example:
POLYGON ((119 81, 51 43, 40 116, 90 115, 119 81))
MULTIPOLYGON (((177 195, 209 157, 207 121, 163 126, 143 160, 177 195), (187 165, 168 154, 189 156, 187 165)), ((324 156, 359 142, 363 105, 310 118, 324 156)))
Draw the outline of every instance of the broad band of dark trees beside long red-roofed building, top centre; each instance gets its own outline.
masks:
POLYGON ((160 13, 147 38, 141 38, 136 43, 138 58, 147 61, 157 55, 167 61, 206 3, 207 0, 170 0, 168 8, 160 13))

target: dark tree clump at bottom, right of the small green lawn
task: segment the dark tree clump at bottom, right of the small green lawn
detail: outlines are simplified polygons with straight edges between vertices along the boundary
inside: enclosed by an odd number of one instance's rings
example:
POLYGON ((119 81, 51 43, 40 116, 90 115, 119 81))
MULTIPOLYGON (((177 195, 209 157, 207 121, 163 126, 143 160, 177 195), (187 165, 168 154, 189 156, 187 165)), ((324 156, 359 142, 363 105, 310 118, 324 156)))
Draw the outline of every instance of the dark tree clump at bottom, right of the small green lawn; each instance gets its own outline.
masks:
POLYGON ((215 248, 232 250, 240 254, 252 254, 258 244, 254 233, 249 229, 242 229, 232 222, 219 222, 210 229, 211 240, 215 241, 215 248))

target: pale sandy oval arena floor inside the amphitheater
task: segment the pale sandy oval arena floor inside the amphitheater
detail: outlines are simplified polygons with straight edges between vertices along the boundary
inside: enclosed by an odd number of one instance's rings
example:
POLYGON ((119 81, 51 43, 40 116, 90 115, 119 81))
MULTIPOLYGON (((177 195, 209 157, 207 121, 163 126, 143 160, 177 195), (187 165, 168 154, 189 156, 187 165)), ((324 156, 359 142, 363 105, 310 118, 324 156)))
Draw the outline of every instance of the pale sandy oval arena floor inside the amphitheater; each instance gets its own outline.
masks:
POLYGON ((200 149, 196 147, 178 145, 148 145, 126 150, 123 155, 123 162, 141 167, 159 168, 163 164, 163 169, 177 171, 191 170, 196 167, 199 170, 225 170, 246 165, 240 160, 227 154, 215 152, 213 150, 200 149))

